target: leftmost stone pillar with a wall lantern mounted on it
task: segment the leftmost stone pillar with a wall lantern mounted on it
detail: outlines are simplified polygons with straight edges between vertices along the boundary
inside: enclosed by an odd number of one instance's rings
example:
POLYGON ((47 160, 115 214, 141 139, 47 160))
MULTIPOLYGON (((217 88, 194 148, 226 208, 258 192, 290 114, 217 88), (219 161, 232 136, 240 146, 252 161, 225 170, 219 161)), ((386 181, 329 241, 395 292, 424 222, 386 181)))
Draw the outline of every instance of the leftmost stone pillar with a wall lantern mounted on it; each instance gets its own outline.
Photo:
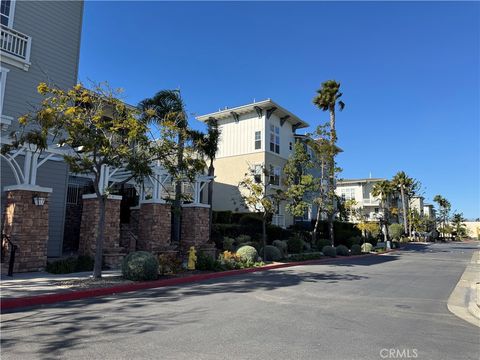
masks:
MULTIPOLYGON (((17 245, 14 272, 44 270, 47 265, 48 202, 51 188, 33 185, 5 187, 3 231, 17 245), (35 205, 33 198, 44 199, 35 205)), ((10 259, 8 248, 6 261, 10 259)))

